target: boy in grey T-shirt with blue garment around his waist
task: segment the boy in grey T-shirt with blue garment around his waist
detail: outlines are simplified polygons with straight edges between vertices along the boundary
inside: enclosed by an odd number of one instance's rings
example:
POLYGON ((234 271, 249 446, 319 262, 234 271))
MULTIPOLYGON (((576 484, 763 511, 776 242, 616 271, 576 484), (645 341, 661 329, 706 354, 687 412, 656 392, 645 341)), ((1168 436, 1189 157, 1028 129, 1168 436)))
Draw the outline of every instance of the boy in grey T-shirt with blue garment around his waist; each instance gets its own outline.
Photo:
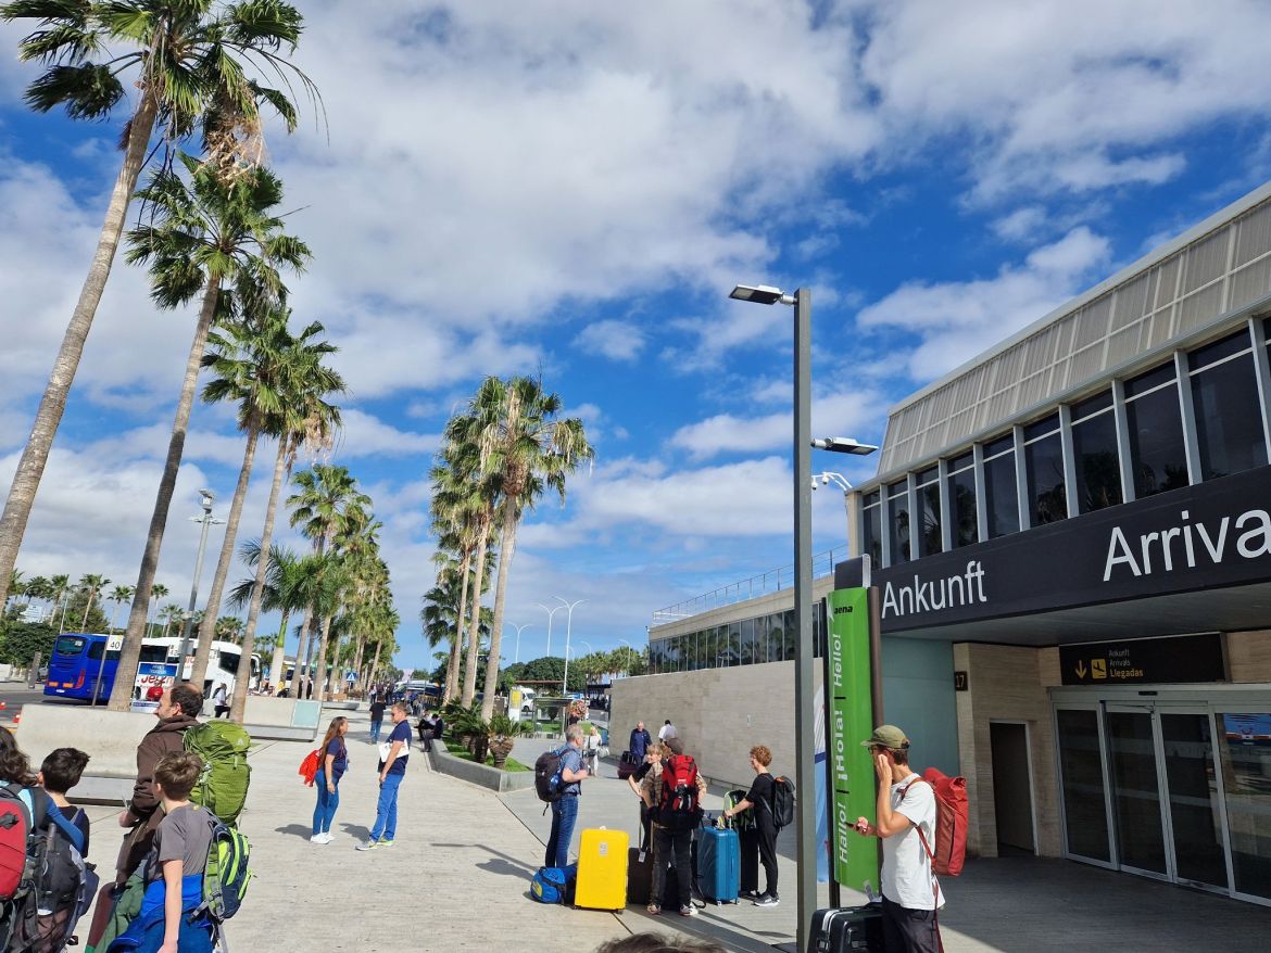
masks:
POLYGON ((108 953, 211 953, 212 924, 192 916, 203 903, 203 870, 212 845, 206 808, 189 802, 203 762, 174 751, 155 765, 154 787, 163 821, 145 860, 141 911, 108 953))

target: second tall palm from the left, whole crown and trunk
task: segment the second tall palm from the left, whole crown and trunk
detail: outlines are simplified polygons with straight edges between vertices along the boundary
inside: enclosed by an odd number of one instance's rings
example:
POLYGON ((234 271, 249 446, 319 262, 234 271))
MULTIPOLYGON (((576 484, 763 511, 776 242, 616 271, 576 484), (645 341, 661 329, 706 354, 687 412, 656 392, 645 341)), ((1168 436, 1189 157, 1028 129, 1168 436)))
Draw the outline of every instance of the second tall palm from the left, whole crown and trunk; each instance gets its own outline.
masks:
MULTIPOLYGON (((309 258, 302 241, 282 233, 273 210, 282 201, 282 183, 268 169, 252 169, 224 182, 208 163, 180 156, 191 183, 172 170, 155 174, 140 193, 155 211, 154 224, 128 233, 128 262, 149 262, 151 296, 161 308, 177 308, 202 296, 194 339, 186 361, 177 417, 168 442, 145 553, 137 576, 137 596, 119 653, 118 677, 111 690, 111 710, 126 710, 132 698, 145 632, 146 606, 163 545, 168 510, 177 485, 177 470, 186 446, 189 412, 194 403, 203 348, 217 313, 221 285, 233 281, 241 302, 285 296, 277 266, 300 272, 309 258)), ((212 616, 215 618, 215 616, 212 616)))

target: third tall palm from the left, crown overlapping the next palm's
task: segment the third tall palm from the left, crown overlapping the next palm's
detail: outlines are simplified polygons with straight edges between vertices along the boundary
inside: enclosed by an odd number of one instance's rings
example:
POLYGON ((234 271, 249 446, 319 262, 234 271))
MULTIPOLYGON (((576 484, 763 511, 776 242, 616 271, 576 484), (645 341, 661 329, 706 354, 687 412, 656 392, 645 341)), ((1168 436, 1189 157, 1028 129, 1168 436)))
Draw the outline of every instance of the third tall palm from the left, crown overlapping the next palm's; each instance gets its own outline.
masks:
MULTIPOLYGON (((285 309, 266 308, 258 314, 243 315, 240 320, 228 324, 219 333, 214 332, 208 338, 212 351, 203 357, 203 366, 211 367, 217 377, 203 388, 203 402, 236 402, 239 429, 247 436, 243 466, 225 525, 225 541, 221 544, 212 588, 207 595, 208 615, 220 611, 225 578, 234 560, 243 502, 252 479, 257 441, 262 432, 278 429, 277 422, 285 413, 283 404, 297 386, 319 386, 324 393, 343 388, 339 376, 320 363, 324 356, 336 351, 332 344, 318 339, 324 330, 323 325, 313 321, 299 335, 292 337, 287 330, 289 318, 290 311, 285 309), (313 380, 311 375, 315 374, 323 375, 323 379, 313 380), (297 375, 310 379, 301 384, 296 380, 297 375)), ((200 629, 198 648, 194 652, 196 685, 202 684, 207 671, 211 644, 211 630, 205 624, 200 629)))

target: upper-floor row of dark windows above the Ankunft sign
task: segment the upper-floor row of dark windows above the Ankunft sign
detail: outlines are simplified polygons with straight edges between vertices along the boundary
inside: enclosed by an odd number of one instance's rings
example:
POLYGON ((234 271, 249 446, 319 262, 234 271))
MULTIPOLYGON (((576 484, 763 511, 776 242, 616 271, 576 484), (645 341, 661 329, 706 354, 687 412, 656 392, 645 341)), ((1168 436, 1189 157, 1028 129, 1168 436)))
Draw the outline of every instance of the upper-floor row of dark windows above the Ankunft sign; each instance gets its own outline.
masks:
POLYGON ((984 539, 1018 532, 1021 502, 1028 526, 1043 526, 1118 506, 1127 493, 1144 499, 1193 478, 1266 466, 1271 380, 1260 381, 1260 375, 1271 377, 1268 363, 1271 319, 1171 355, 1120 388, 1069 404, 1065 414, 1054 410, 1022 428, 1018 446, 1017 431, 984 441, 980 464, 975 449, 963 450, 947 460, 944 480, 937 466, 918 469, 887 484, 885 499, 878 490, 863 498, 863 551, 880 565, 897 565, 943 550, 942 518, 949 521, 948 540, 956 549, 980 541, 981 522, 984 539), (1186 368, 1182 381, 1179 367, 1186 368), (911 517, 919 520, 916 536, 911 517))

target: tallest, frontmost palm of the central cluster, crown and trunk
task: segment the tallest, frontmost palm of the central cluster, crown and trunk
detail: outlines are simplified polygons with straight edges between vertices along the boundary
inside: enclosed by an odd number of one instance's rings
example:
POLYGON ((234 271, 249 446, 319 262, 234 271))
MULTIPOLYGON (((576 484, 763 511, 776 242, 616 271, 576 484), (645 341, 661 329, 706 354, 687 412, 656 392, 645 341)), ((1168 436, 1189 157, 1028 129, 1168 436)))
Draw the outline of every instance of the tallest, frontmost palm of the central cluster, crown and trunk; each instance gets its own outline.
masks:
POLYGON ((595 455, 582 421, 562 418, 561 408, 561 398, 543 390, 539 380, 487 377, 469 404, 469 413, 460 418, 463 438, 483 450, 482 469, 493 478, 491 485, 497 487, 492 502, 500 511, 498 582, 482 701, 484 719, 494 710, 507 574, 521 517, 548 488, 557 490, 563 506, 566 475, 595 455))

